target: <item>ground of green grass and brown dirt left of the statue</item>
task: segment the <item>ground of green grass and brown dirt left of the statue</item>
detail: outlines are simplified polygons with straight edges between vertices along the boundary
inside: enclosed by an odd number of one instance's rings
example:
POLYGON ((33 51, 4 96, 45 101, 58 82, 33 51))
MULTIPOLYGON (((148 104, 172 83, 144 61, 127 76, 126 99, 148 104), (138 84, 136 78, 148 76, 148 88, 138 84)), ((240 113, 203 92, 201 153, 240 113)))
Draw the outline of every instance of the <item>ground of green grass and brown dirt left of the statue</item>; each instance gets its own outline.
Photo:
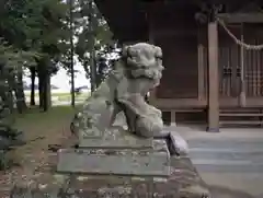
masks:
POLYGON ((15 115, 14 127, 23 130, 27 140, 43 138, 10 152, 9 155, 21 165, 0 172, 0 191, 2 187, 9 188, 13 183, 32 183, 37 179, 43 182, 43 175, 45 178, 48 175, 50 177, 48 164, 50 156, 56 156, 56 153, 48 151, 48 144, 60 144, 69 140, 69 126, 73 114, 71 106, 55 106, 47 113, 35 108, 23 115, 15 115))

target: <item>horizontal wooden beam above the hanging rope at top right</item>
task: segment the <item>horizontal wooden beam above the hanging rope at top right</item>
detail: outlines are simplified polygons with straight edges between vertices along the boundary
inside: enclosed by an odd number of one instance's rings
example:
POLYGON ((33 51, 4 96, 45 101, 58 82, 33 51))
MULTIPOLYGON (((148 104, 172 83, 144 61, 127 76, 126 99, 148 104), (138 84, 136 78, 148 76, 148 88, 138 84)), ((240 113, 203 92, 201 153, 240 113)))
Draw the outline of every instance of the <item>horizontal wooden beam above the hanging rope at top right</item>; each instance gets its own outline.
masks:
POLYGON ((263 23, 263 13, 220 13, 218 18, 226 23, 263 23))

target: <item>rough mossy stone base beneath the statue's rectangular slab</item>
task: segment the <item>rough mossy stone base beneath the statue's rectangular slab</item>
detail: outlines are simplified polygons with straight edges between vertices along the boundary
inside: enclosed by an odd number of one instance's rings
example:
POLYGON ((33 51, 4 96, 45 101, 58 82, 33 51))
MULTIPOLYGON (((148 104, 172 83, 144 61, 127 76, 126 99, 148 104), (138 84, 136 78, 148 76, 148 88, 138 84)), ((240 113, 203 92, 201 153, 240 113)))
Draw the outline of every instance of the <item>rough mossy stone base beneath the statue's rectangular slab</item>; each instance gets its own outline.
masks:
MULTIPOLYGON (((55 175, 64 185, 43 188, 20 188, 20 197, 32 198, 209 198, 207 185, 188 158, 171 158, 171 175, 165 179, 116 175, 55 175), (56 193, 59 191, 57 195, 56 193), (37 193, 37 194, 36 194, 37 193)), ((10 196, 14 197, 14 196, 10 196)))

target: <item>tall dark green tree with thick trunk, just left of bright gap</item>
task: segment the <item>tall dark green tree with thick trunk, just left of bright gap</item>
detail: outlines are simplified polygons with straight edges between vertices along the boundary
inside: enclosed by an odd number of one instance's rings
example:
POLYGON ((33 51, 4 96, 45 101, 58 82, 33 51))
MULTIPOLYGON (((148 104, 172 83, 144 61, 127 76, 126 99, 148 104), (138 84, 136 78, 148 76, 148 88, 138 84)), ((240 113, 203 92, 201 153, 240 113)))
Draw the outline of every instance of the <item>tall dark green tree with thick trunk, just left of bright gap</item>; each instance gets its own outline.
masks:
POLYGON ((69 28, 66 23, 68 18, 67 4, 60 0, 46 0, 43 5, 41 53, 43 58, 38 61, 37 73, 39 80, 39 104, 44 110, 50 105, 50 74, 56 73, 57 62, 67 51, 65 40, 69 39, 69 28))

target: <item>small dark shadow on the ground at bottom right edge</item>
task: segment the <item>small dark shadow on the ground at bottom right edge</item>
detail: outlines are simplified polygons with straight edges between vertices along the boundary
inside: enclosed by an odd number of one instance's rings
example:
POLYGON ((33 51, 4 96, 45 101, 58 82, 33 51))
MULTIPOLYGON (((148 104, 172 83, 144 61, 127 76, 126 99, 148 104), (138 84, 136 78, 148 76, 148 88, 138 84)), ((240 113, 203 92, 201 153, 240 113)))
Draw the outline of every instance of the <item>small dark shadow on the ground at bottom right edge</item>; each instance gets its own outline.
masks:
POLYGON ((209 186, 213 198, 256 198, 240 190, 233 190, 221 186, 209 186))

